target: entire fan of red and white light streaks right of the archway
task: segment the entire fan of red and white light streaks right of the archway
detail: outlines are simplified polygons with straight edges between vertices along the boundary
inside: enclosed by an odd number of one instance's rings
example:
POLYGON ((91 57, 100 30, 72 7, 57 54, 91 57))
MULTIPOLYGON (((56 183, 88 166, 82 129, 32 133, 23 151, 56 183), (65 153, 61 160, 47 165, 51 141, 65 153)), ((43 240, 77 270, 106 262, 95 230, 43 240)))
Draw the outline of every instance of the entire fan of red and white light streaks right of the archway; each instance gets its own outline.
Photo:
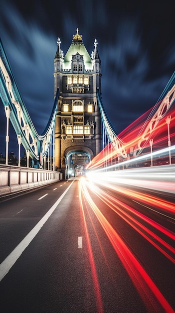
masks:
MULTIPOLYGON (((175 221, 175 201, 165 199, 175 194, 174 100, 173 95, 157 102, 117 135, 122 145, 115 145, 115 139, 108 143, 87 165, 87 179, 79 182, 90 220, 92 210, 148 310, 159 313, 174 310, 95 202, 97 199, 102 207, 113 210, 175 264, 175 232, 170 225, 170 221, 175 221), (90 196, 92 192, 95 202, 90 196)), ((104 135, 106 138, 108 134, 104 135)), ((91 224, 94 228, 92 220, 91 224)))

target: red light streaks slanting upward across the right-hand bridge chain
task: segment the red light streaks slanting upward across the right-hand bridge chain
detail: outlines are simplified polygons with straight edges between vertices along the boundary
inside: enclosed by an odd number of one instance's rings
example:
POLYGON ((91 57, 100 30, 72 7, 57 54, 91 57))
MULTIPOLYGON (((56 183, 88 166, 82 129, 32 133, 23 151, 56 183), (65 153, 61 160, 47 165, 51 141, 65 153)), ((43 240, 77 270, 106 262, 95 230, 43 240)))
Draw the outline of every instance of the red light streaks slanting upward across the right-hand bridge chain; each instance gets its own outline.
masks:
MULTIPOLYGON (((142 161, 148 161, 148 158, 151 158, 151 156, 154 156, 154 161, 157 162, 160 162, 160 157, 163 157, 164 159, 167 157, 167 162, 169 163, 169 153, 172 150, 175 150, 175 103, 172 105, 171 110, 169 111, 169 114, 171 114, 171 123, 169 127, 170 138, 168 134, 168 125, 166 122, 168 114, 164 117, 161 115, 156 116, 156 120, 154 121, 150 115, 151 111, 152 109, 140 116, 136 121, 134 121, 119 135, 117 135, 121 142, 123 142, 121 148, 118 147, 115 150, 112 143, 109 143, 104 148, 104 150, 102 150, 91 160, 91 162, 87 165, 87 168, 98 168, 103 167, 104 165, 105 167, 108 167, 110 159, 112 159, 111 163, 115 163, 115 166, 118 165, 119 159, 120 168, 122 168, 124 165, 132 165, 134 163, 137 163, 140 166, 144 166, 142 161), (148 125, 150 125, 150 127, 148 127, 148 125), (146 133, 144 132, 144 129, 147 129, 146 133), (149 153, 151 138, 153 139, 153 152, 149 153), (167 150, 164 150, 164 148, 167 150), (123 150, 127 151, 128 157, 123 157, 123 150), (167 154, 165 155, 165 153, 167 154), (140 156, 142 157, 140 158, 140 156)), ((175 151, 173 152, 173 155, 175 155, 175 151)))

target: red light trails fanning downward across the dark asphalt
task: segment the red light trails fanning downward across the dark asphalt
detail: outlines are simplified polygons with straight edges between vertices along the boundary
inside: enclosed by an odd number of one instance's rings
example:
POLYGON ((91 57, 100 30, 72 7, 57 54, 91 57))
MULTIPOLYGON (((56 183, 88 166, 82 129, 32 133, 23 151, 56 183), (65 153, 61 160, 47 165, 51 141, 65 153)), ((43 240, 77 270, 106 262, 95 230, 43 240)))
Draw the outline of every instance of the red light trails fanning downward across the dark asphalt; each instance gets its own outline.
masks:
POLYGON ((90 214, 89 210, 92 210, 95 213, 95 216, 97 217, 109 241, 111 242, 117 255, 122 261, 125 269, 127 270, 130 278, 133 281, 133 284, 138 290, 140 296, 142 297, 148 311, 154 311, 159 313, 164 311, 168 313, 173 313, 174 309, 171 307, 164 295, 151 279, 146 269, 144 269, 142 264, 134 255, 134 252, 131 251, 131 248, 127 246, 126 242, 118 234, 114 226, 112 226, 112 224, 104 216, 100 208, 95 204, 90 194, 93 193, 100 200, 102 200, 109 209, 112 209, 115 213, 122 217, 130 226, 132 226, 139 234, 141 234, 146 240, 148 240, 155 248, 157 248, 161 253, 164 254, 165 257, 167 257, 173 263, 175 263, 175 248, 173 246, 175 233, 173 231, 170 231, 163 225, 159 224, 158 222, 152 220, 144 213, 141 213, 137 209, 126 204, 122 200, 119 200, 118 197, 115 197, 111 194, 111 192, 108 192, 110 190, 110 187, 113 191, 116 191, 121 195, 127 194, 134 200, 139 199, 143 203, 147 202, 148 205, 154 203, 154 205, 156 204, 157 209, 161 208, 161 210, 163 210, 167 214, 169 212, 175 212, 175 205, 173 203, 165 201, 163 199, 161 200, 160 198, 154 197, 152 195, 146 195, 144 192, 137 192, 129 190, 129 188, 126 189, 122 186, 114 186, 113 184, 110 185, 108 183, 106 183, 106 185, 103 185, 103 189, 101 189, 93 181, 88 181, 88 179, 85 179, 83 177, 79 180, 80 208, 83 214, 86 238, 88 239, 88 251, 92 267, 94 290, 96 298, 98 299, 98 312, 102 311, 102 299, 99 291, 100 288, 97 278, 97 272, 95 270, 95 261, 86 224, 85 211, 90 214), (158 233, 160 233, 160 235, 154 232, 154 229, 158 233), (163 236, 163 238, 161 236, 163 236), (166 242, 166 238, 169 242, 166 242), (172 245, 170 244, 170 242, 172 242, 172 245))

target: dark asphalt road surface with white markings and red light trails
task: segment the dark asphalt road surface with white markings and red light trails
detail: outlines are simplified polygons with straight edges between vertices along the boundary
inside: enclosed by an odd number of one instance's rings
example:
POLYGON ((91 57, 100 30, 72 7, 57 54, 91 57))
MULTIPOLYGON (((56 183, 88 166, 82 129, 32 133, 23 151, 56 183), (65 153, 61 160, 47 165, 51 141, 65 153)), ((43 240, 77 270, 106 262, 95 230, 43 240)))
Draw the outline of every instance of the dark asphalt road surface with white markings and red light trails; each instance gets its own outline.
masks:
POLYGON ((0 203, 2 313, 175 311, 174 214, 95 188, 59 181, 0 203))

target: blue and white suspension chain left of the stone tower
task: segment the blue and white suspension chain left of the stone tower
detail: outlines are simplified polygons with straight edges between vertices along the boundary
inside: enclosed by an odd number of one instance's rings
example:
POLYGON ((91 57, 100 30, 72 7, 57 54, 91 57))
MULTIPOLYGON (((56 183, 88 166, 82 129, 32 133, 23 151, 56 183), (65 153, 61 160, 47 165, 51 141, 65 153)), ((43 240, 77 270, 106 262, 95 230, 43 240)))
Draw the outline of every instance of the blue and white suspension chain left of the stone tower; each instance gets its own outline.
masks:
MULTIPOLYGON (((9 61, 0 40, 0 97, 4 105, 5 115, 10 119, 16 132, 18 144, 21 142, 32 160, 36 160, 42 167, 42 160, 46 156, 54 136, 57 100, 57 89, 52 112, 47 126, 39 135, 32 123, 25 104, 20 96, 9 61)), ((7 138, 8 140, 8 138, 7 138)))

